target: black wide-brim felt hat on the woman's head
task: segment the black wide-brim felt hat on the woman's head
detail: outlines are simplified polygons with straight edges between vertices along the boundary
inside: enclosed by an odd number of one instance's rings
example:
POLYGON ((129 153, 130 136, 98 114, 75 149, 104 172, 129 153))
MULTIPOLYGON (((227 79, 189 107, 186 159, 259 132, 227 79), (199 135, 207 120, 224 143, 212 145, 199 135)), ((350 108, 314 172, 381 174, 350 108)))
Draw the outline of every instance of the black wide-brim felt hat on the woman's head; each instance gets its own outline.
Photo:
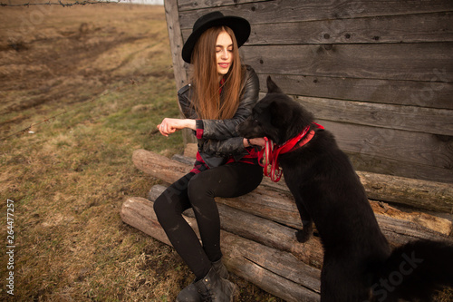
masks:
POLYGON ((182 47, 182 59, 190 63, 192 58, 192 51, 198 38, 208 28, 214 26, 227 26, 233 30, 236 36, 237 47, 241 47, 246 43, 250 35, 250 24, 244 18, 234 15, 223 15, 220 12, 212 12, 207 15, 202 15, 195 22, 192 34, 188 36, 188 40, 182 47))

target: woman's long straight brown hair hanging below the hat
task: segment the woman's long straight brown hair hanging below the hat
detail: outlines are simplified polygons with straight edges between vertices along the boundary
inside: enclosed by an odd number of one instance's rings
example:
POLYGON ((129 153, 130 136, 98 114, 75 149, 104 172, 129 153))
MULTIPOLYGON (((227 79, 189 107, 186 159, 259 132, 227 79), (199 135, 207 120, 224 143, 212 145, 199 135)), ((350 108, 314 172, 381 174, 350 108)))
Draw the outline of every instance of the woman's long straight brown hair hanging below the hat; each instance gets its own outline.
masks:
POLYGON ((194 89, 192 105, 198 113, 198 118, 225 120, 231 119, 235 115, 239 106, 244 76, 237 48, 236 36, 226 26, 211 27, 198 38, 191 58, 194 89), (225 83, 220 98, 216 42, 218 34, 224 31, 231 36, 233 41, 233 60, 228 73, 225 75, 225 83))

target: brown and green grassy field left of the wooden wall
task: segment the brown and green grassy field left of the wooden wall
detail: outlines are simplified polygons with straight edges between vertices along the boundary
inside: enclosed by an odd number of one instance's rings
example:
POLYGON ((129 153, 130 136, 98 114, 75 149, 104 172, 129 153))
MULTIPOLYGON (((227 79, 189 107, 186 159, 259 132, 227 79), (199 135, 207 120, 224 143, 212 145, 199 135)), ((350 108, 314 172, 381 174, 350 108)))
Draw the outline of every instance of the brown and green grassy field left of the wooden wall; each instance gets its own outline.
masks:
MULTIPOLYGON (((173 301, 188 268, 120 219, 125 196, 158 183, 132 151, 183 149, 152 132, 178 116, 163 7, 1 7, 0 19, 0 234, 15 247, 0 300, 173 301)), ((233 279, 240 301, 281 301, 233 279)))

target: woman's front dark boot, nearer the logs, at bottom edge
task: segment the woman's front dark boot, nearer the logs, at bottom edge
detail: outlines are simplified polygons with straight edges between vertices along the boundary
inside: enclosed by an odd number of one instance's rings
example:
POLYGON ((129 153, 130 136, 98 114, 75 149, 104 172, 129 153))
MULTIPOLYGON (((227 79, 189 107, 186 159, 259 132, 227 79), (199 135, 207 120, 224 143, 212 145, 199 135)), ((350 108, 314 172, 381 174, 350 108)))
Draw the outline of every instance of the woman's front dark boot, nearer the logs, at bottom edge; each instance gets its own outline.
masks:
POLYGON ((230 281, 220 278, 216 270, 211 268, 207 275, 195 283, 201 301, 233 302, 236 286, 230 281))

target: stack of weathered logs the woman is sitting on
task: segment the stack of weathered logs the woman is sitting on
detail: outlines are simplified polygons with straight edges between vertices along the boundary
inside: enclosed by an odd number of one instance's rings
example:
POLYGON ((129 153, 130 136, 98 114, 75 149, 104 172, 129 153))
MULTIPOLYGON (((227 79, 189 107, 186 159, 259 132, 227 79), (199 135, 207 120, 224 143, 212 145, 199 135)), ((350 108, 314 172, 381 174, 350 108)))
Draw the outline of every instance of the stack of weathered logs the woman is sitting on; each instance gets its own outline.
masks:
MULTIPOLYGON (((169 160, 144 150, 134 151, 132 160, 138 169, 167 184, 188 173, 193 163, 187 161, 187 157, 169 160)), ((418 180, 398 178, 386 181, 388 176, 358 174, 373 199, 402 200, 401 203, 412 206, 423 204, 418 208, 444 212, 453 209, 453 190, 448 185, 427 181, 414 183, 418 180)), ((170 244, 152 208, 153 201, 165 188, 154 186, 149 191, 148 199, 127 198, 120 214, 121 219, 132 227, 170 244)), ((286 301, 319 300, 323 248, 316 236, 304 244, 295 239, 295 229, 301 229, 302 224, 284 181, 275 184, 264 180, 256 190, 245 196, 217 198, 216 201, 224 262, 231 272, 286 301)), ((453 239, 453 227, 448 219, 420 212, 401 212, 381 201, 371 201, 371 207, 391 246, 414 239, 453 239)), ((198 232, 191 209, 184 214, 198 232)))

